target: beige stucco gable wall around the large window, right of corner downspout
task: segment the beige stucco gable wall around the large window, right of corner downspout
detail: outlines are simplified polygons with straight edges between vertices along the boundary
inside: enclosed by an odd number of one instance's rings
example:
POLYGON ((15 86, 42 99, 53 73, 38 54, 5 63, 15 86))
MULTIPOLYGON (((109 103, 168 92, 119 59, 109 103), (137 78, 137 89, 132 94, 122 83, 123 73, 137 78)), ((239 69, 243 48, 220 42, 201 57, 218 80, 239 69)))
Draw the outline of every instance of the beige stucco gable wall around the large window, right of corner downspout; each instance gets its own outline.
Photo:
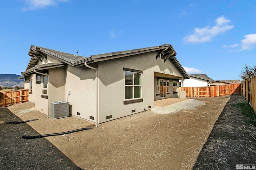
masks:
MULTIPOLYGON (((182 74, 169 60, 156 59, 156 53, 147 53, 132 57, 122 57, 99 63, 99 123, 131 115, 154 107, 155 72, 182 77, 182 74), (124 104, 124 70, 130 68, 143 71, 142 98, 143 102, 124 104), (136 110, 132 112, 132 110, 136 110), (112 115, 111 119, 106 116, 112 115)), ((172 80, 170 95, 172 97, 172 80)))

